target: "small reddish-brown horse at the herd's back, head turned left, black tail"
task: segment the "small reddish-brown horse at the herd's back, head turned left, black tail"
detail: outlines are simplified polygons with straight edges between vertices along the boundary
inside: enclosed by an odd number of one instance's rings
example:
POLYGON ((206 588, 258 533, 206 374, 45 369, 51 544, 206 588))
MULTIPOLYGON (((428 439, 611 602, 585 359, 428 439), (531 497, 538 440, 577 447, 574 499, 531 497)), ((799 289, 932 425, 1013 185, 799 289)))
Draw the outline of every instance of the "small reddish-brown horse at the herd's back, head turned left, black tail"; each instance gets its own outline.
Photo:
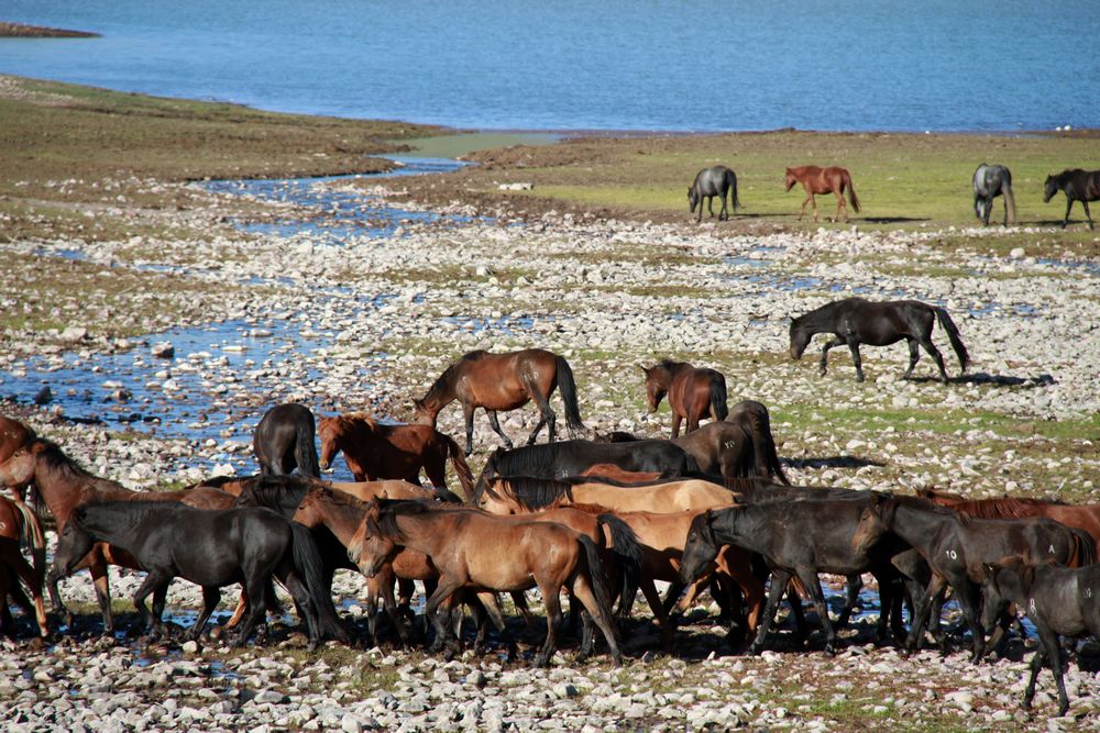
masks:
POLYGON ((726 378, 721 371, 697 368, 686 362, 661 359, 651 367, 641 367, 646 374, 646 399, 649 411, 657 412, 661 400, 669 396, 672 408, 672 437, 680 435, 680 421, 688 421, 688 431, 698 429, 698 421, 711 415, 712 420, 725 420, 726 378))

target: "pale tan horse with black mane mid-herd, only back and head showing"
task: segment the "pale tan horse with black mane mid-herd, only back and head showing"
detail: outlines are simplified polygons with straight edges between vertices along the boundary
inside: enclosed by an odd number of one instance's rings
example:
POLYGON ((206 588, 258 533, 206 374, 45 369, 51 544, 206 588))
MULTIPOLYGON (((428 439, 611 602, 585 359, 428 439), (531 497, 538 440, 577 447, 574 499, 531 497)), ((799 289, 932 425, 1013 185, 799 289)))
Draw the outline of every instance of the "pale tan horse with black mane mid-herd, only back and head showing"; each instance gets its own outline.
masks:
POLYGON ((512 476, 479 484, 471 503, 494 514, 521 514, 547 507, 578 503, 598 504, 616 512, 680 512, 729 507, 736 502, 737 495, 733 491, 700 479, 672 479, 651 486, 617 486, 512 476))

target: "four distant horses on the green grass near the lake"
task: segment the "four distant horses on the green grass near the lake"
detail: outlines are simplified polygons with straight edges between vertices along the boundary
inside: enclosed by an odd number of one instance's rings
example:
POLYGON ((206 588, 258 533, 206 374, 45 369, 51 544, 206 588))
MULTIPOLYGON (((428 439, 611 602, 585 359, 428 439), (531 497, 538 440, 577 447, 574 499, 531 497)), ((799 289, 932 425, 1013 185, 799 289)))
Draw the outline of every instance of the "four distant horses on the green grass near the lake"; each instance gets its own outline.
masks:
MULTIPOLYGON (((814 222, 817 221, 817 201, 814 199, 817 193, 833 193, 836 197, 836 213, 833 221, 839 221, 842 213, 844 221, 848 221, 848 206, 844 200, 846 192, 851 208, 856 213, 859 213, 859 198, 856 196, 856 189, 851 186, 851 175, 845 168, 839 166, 788 168, 784 181, 787 190, 790 191, 795 184, 802 184, 802 188, 806 192, 806 198, 802 201, 802 209, 799 211, 799 221, 802 221, 802 216, 806 213, 806 204, 813 207, 814 222)), ((974 212, 983 224, 989 225, 993 199, 999 196, 1004 198, 1004 225, 1008 226, 1015 220, 1016 202, 1012 193, 1012 173, 1007 167, 982 163, 974 171, 972 187, 974 212)), ((1074 202, 1080 201, 1085 208, 1089 229, 1092 229, 1089 201, 1100 201, 1100 170, 1074 168, 1047 176, 1043 185, 1043 202, 1048 203, 1058 191, 1066 195, 1066 215, 1062 220, 1062 227, 1065 229, 1069 224, 1069 211, 1074 208, 1074 202)), ((703 168, 688 189, 691 213, 695 213, 695 209, 698 208, 696 222, 703 220, 704 199, 711 218, 714 218, 714 197, 718 197, 718 201, 722 203, 722 209, 718 212, 719 221, 729 218, 726 209, 727 197, 730 199, 733 209, 736 210, 737 207, 741 206, 737 198, 737 175, 726 166, 703 168)))

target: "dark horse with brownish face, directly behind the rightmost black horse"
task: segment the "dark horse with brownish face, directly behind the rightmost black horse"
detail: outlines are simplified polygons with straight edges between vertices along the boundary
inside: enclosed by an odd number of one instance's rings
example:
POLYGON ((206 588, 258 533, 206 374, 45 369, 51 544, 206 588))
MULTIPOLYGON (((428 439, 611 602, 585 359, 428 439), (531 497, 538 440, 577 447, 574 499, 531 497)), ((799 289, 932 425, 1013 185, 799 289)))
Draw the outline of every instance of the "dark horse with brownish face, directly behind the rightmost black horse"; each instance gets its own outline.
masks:
MULTIPOLYGON (((932 600, 950 585, 972 636, 971 660, 975 663, 981 659, 986 646, 978 618, 980 586, 985 581, 983 563, 1021 557, 1031 563, 1080 566, 1094 563, 1097 558, 1092 537, 1082 530, 1053 520, 970 519, 925 499, 871 495, 851 544, 857 548, 866 547, 888 534, 912 545, 933 570, 923 601, 914 604, 906 647, 916 649, 932 600)), ((946 640, 941 638, 941 647, 946 649, 946 640)))

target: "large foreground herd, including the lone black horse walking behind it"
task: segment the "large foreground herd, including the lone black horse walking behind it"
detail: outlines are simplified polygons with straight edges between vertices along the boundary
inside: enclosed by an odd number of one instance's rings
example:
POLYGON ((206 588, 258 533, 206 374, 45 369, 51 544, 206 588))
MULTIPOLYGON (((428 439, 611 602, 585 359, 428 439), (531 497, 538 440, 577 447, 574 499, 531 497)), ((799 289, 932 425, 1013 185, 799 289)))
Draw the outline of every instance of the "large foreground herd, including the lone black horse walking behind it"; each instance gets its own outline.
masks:
MULTIPOLYGON (((801 356, 814 333, 833 333, 822 371, 829 347, 846 344, 862 379, 859 344, 905 338, 905 377, 923 347, 946 381, 931 341, 936 321, 965 369, 969 356, 950 316, 916 301, 846 299, 794 319, 791 356, 801 356)), ((163 612, 168 586, 179 577, 202 588, 202 611, 186 631, 189 638, 204 632, 221 589, 239 582, 241 598, 224 624, 232 630, 226 638, 248 643, 265 630, 266 614, 279 610, 277 581, 293 598, 311 646, 351 643, 331 592, 334 571, 346 568, 365 578, 367 633, 375 642, 386 631, 378 625, 381 606, 397 643, 413 643, 417 629, 407 619, 414 582, 420 581, 430 624, 421 633, 447 656, 462 648, 465 608, 476 629, 475 648, 495 628, 513 657, 518 649, 498 595, 509 593, 530 622, 524 591, 531 588, 540 591, 547 623, 535 665, 549 664, 557 648, 563 595, 570 618, 580 617, 579 655, 596 649, 598 631, 619 663, 639 590, 667 652, 674 651, 676 615, 710 592, 728 620, 730 643, 750 640, 754 653, 768 643, 784 597, 804 643, 802 599, 809 599, 825 632, 825 653, 833 654, 861 577, 870 574, 881 598, 877 636, 883 643, 893 636, 906 651, 919 648, 925 633, 949 651, 950 635, 941 626, 948 588, 961 607, 975 662, 1003 643, 1018 611, 1028 615, 1040 647, 1024 703, 1032 700, 1040 668, 1049 664, 1059 712, 1066 711, 1058 636, 1100 633, 1100 504, 792 486, 766 406, 746 400, 727 407, 725 378, 714 369, 670 359, 641 368, 650 410, 666 397, 672 407, 671 438, 616 432, 556 440, 549 401, 556 389, 570 433, 587 431, 568 362, 543 349, 474 352, 416 400, 414 423, 386 424, 364 413, 317 421, 305 406, 280 404, 254 432, 258 475, 209 479, 178 491, 129 490, 87 471, 26 425, 0 418, 0 485, 12 492, 0 499, 0 629, 13 629, 10 597, 47 637, 44 589, 72 623, 57 585, 88 568, 105 631, 112 631, 107 568, 118 565, 146 574, 134 606, 151 638, 173 633, 163 612), (465 452, 436 427, 440 410, 454 400, 465 419, 465 452), (539 422, 528 444, 514 447, 496 413, 529 401, 538 406, 539 422), (486 410, 504 446, 475 480, 466 455, 477 408, 486 410), (683 421, 686 432, 680 435, 683 421), (543 425, 550 442, 536 444, 543 425), (320 469, 341 452, 355 480, 321 480, 320 469), (448 460, 459 491, 447 486, 448 460), (421 486, 421 471, 431 488, 421 486), (24 503, 28 491, 57 526, 48 574, 41 520, 24 503), (21 543, 32 547, 33 562, 22 555, 21 543), (821 573, 847 580, 836 622, 821 573), (670 586, 664 598, 658 581, 670 586)))

